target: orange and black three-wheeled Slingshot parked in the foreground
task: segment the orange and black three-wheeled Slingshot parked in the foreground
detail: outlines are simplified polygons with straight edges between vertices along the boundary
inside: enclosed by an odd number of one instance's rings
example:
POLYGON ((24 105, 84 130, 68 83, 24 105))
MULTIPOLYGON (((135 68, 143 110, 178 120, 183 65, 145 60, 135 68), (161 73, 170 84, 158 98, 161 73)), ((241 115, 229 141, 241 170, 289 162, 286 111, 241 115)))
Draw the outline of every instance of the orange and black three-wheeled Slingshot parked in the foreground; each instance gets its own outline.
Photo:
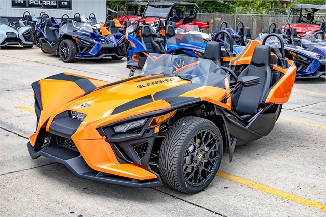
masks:
POLYGON ((139 76, 113 83, 71 73, 34 82, 31 157, 80 178, 202 191, 223 149, 231 161, 236 145, 270 133, 296 74, 292 61, 271 67, 267 45, 254 48, 239 76, 220 68, 220 58, 220 44, 209 42, 202 59, 149 54, 139 76))

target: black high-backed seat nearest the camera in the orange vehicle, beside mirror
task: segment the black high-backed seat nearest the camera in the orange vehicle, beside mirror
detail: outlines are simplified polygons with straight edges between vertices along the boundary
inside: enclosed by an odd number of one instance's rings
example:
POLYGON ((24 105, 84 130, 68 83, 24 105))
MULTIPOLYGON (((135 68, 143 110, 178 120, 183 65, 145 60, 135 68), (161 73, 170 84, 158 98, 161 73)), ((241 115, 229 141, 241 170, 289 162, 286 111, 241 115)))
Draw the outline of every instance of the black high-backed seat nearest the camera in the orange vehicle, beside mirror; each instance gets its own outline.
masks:
POLYGON ((254 116, 259 108, 263 108, 263 97, 271 86, 270 47, 257 45, 249 66, 244 69, 238 78, 243 76, 258 76, 260 84, 243 87, 240 86, 232 95, 232 110, 243 119, 254 116))

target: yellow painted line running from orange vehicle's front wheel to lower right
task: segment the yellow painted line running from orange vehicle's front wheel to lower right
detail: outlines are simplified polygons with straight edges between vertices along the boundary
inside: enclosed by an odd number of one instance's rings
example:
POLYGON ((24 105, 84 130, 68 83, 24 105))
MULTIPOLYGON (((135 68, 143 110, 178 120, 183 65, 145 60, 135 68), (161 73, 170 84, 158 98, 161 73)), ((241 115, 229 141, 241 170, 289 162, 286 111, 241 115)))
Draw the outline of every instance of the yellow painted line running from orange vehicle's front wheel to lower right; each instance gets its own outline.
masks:
POLYGON ((294 201, 296 203, 300 203, 302 205, 313 207, 313 208, 316 208, 316 209, 326 212, 326 205, 322 204, 322 203, 318 203, 318 202, 308 200, 303 197, 292 195, 290 193, 286 193, 286 192, 268 187, 267 185, 259 184, 259 183, 250 181, 248 179, 240 178, 238 176, 234 176, 234 175, 231 175, 231 174, 228 174, 225 172, 218 171, 218 174, 216 174, 216 176, 219 176, 219 177, 222 177, 222 178, 225 178, 225 179, 228 179, 228 180, 231 180, 231 181, 243 184, 243 185, 247 185, 248 187, 258 189, 260 191, 263 191, 263 192, 266 192, 266 193, 269 193, 272 195, 276 195, 278 197, 285 198, 285 199, 294 201))

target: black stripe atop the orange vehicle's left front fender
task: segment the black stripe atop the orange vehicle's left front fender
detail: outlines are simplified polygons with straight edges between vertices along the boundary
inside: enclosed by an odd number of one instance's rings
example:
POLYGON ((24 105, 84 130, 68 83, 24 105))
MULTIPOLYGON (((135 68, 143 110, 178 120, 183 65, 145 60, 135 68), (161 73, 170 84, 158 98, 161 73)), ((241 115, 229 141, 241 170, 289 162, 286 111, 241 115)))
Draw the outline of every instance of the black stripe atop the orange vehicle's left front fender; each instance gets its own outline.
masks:
POLYGON ((88 80, 86 78, 82 78, 82 77, 75 76, 75 75, 66 75, 65 73, 52 75, 50 77, 47 77, 46 79, 75 82, 84 92, 89 92, 96 88, 96 86, 90 80, 88 80))

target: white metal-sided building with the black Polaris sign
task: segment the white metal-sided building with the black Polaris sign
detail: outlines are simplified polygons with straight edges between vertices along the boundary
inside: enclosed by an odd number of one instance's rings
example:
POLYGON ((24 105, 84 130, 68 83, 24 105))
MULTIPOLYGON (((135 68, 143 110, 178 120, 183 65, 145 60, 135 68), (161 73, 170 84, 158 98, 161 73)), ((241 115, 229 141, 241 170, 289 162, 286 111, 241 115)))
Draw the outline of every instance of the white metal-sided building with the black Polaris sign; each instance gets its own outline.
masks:
POLYGON ((0 16, 7 17, 9 21, 17 21, 22 18, 25 11, 39 17, 45 12, 49 17, 61 18, 67 14, 70 18, 75 13, 87 18, 94 13, 98 22, 104 22, 106 18, 105 0, 0 0, 0 16))

